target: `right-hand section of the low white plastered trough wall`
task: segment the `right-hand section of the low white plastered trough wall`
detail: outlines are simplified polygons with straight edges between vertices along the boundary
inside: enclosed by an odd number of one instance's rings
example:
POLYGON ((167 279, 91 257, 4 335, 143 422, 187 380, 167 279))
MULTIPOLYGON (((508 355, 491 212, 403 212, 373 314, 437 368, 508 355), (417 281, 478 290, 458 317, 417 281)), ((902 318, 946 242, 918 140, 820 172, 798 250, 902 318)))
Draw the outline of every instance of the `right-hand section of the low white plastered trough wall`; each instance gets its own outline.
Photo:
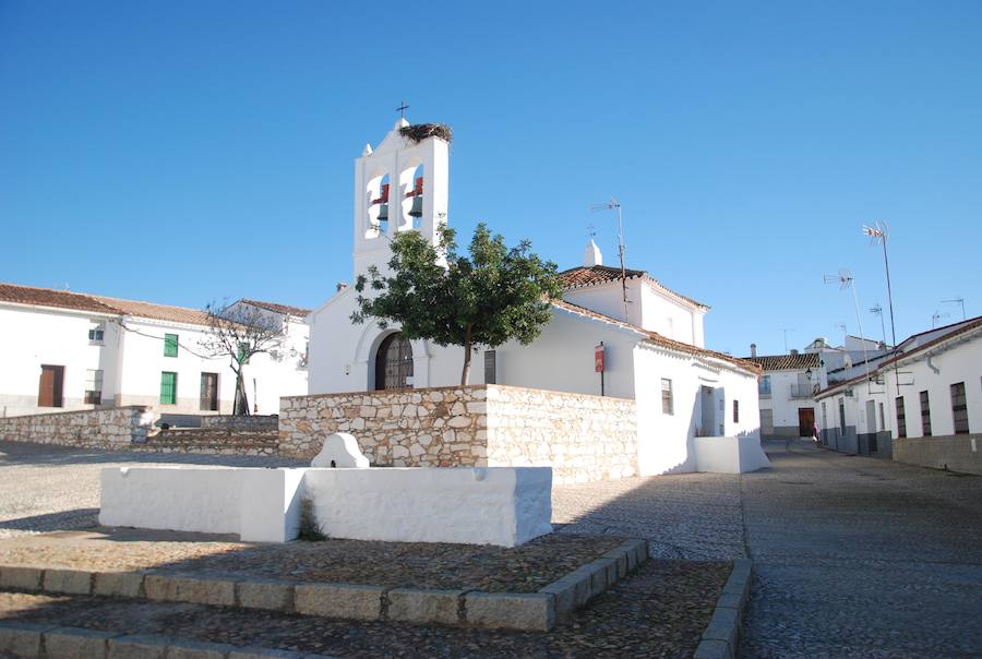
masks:
POLYGON ((552 531, 549 467, 310 469, 330 538, 515 547, 552 531))

